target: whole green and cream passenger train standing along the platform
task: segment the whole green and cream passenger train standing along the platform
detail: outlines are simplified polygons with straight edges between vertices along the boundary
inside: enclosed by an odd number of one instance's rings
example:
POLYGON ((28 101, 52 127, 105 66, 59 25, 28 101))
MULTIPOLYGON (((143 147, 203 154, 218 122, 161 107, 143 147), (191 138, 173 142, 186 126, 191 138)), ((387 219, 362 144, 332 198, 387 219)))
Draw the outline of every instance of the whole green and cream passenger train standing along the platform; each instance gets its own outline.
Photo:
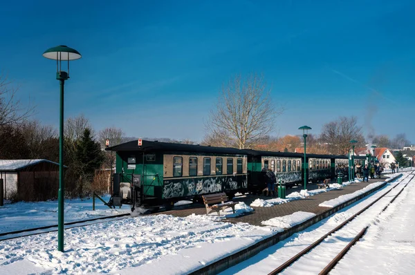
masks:
MULTIPOLYGON (((109 205, 172 209, 179 200, 200 201, 201 196, 225 192, 260 193, 263 169, 271 169, 286 188, 304 182, 335 178, 335 169, 348 164, 345 155, 304 154, 234 149, 199 144, 139 140, 105 149, 116 152, 109 205)), ((366 157, 355 156, 355 164, 366 157)))

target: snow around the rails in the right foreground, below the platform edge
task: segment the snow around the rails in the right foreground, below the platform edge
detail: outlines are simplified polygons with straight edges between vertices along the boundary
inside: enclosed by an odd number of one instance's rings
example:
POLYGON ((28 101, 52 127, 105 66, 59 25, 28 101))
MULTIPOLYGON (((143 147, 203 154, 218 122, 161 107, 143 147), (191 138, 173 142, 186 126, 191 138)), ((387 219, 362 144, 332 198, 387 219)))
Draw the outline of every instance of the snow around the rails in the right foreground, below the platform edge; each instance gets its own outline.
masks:
MULTIPOLYGON (((409 182, 409 179, 403 180, 403 178, 397 181, 401 182, 401 187, 409 182)), ((268 274, 326 232, 389 191, 397 182, 391 182, 388 187, 381 189, 366 200, 355 203, 308 229, 294 234, 221 274, 268 274)), ((341 250, 353 236, 356 236, 358 231, 370 225, 367 234, 351 248, 344 260, 331 271, 331 274, 414 274, 415 196, 413 193, 415 192, 415 180, 412 180, 394 203, 380 214, 392 196, 399 191, 398 187, 392 190, 386 196, 387 199, 380 200, 368 211, 349 222, 349 226, 345 229, 345 233, 349 234, 347 238, 344 238, 344 235, 334 234, 326 240, 326 244, 330 244, 331 247, 337 245, 337 248, 341 250)), ((294 263, 295 269, 286 269, 282 274, 318 274, 332 258, 331 249, 317 247, 305 258, 294 263)))

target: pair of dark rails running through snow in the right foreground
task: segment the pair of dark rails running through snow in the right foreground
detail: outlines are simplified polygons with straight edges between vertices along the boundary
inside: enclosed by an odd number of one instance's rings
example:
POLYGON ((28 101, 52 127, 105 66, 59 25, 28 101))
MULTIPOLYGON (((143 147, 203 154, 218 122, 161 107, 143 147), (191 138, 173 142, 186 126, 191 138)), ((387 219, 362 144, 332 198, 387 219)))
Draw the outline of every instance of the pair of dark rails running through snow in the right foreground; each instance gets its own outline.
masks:
MULTIPOLYGON (((403 190, 407 187, 407 184, 409 184, 409 182, 411 182, 411 180, 414 177, 415 177, 414 172, 412 172, 409 175, 407 175, 406 178, 410 178, 408 180, 408 182, 404 185, 404 187, 402 189, 400 189, 400 191, 398 193, 396 193, 395 196, 393 196, 393 198, 387 203, 387 205, 382 209, 382 211, 380 211, 380 213, 378 215, 382 214, 382 212, 385 211, 385 209, 387 209, 387 207, 389 207, 389 205, 391 205, 391 203, 394 202, 394 200, 396 200, 396 198, 398 198, 398 196, 400 195, 400 193, 403 192, 403 190)), ((347 220, 345 220, 344 222, 342 222, 340 225, 338 225, 337 227, 335 227, 331 231, 329 231, 327 234, 325 234, 324 236, 322 236, 321 238, 319 238, 318 240, 316 240, 314 243, 312 243, 311 245, 308 245, 308 247, 306 247, 305 249, 303 249, 301 252, 299 252, 298 254, 296 254, 295 256, 293 256, 292 258, 290 258, 289 260, 287 260, 285 263, 283 263, 282 265, 280 265, 276 269, 274 269, 268 275, 279 274, 280 272, 286 271, 286 269, 295 268, 293 265, 295 265, 295 262, 297 262, 297 260, 299 260, 300 258, 303 258, 306 254, 308 254, 308 252, 311 252, 311 250, 313 250, 316 247, 318 247, 320 244, 323 243, 324 240, 327 240, 336 231, 339 231, 340 229, 343 229, 347 224, 349 224, 349 222, 351 222, 351 220, 357 218, 360 214, 362 214, 364 211, 366 211, 367 209, 369 209, 376 202, 378 202, 382 198, 385 198, 385 196, 389 192, 393 191, 396 187, 398 187, 401 184, 401 182, 403 182, 406 178, 400 180, 400 182, 398 182, 397 184, 395 184, 394 187, 392 187, 391 189, 389 189, 389 191, 387 191, 382 196, 380 196, 379 198, 377 198, 376 200, 374 200, 373 202, 371 202, 369 205, 367 205, 365 208, 361 209, 356 214, 354 214, 353 216, 351 216, 350 218, 348 218, 347 220)), ((338 253, 335 257, 333 257, 333 259, 331 260, 331 262, 328 265, 326 265, 326 267, 324 267, 324 269, 322 269, 322 271, 319 274, 329 274, 329 272, 331 271, 331 269, 333 269, 335 267, 335 265, 343 258, 343 256, 345 254, 347 254, 347 252, 349 251, 349 249, 356 242, 358 242, 358 240, 360 238, 362 238, 363 235, 365 235, 365 233, 366 233, 367 229, 369 228, 369 226, 370 225, 367 225, 358 234, 356 234, 356 236, 354 236, 354 238, 346 245, 346 247, 344 247, 340 253, 338 253)), ((341 237, 337 237, 337 238, 341 238, 341 237)), ((329 243, 329 242, 326 242, 326 243, 329 243)))

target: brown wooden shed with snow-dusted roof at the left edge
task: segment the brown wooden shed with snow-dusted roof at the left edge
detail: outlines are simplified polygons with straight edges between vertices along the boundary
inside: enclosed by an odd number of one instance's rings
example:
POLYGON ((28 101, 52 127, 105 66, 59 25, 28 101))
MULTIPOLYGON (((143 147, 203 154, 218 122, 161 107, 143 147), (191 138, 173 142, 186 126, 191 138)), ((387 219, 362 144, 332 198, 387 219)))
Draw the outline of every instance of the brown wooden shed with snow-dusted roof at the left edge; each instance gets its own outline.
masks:
POLYGON ((57 197, 59 163, 50 160, 0 160, 6 200, 49 200, 57 197))

